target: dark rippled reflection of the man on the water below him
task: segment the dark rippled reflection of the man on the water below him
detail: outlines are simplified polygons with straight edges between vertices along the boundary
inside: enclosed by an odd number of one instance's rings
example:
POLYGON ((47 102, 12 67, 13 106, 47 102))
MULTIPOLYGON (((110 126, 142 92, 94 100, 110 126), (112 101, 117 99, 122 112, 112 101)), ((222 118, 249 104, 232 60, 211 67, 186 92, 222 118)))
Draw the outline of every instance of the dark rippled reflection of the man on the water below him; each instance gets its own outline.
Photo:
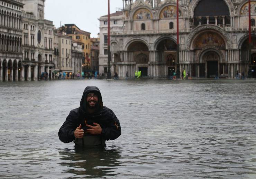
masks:
POLYGON ((79 148, 62 150, 60 153, 61 166, 66 166, 64 172, 72 173, 79 177, 106 177, 118 175, 117 167, 120 166, 121 150, 106 148, 79 148))

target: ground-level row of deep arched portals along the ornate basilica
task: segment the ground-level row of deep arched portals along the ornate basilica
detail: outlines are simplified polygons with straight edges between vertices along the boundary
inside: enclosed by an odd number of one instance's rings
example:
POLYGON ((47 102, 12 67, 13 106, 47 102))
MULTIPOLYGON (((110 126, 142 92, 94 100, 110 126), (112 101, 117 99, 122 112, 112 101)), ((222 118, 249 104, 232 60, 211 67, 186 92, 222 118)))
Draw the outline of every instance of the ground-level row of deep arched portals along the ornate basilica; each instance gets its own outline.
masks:
POLYGON ((134 76, 141 70, 142 76, 150 78, 166 78, 173 72, 181 74, 186 70, 191 77, 227 78, 236 77, 253 69, 256 71, 256 37, 253 38, 252 59, 248 62, 248 43, 243 41, 241 49, 228 49, 227 40, 218 31, 202 30, 191 41, 191 48, 180 51, 177 60, 176 42, 169 37, 162 37, 155 42, 155 50, 141 40, 134 40, 127 51, 112 54, 112 68, 122 78, 126 72, 134 76))

